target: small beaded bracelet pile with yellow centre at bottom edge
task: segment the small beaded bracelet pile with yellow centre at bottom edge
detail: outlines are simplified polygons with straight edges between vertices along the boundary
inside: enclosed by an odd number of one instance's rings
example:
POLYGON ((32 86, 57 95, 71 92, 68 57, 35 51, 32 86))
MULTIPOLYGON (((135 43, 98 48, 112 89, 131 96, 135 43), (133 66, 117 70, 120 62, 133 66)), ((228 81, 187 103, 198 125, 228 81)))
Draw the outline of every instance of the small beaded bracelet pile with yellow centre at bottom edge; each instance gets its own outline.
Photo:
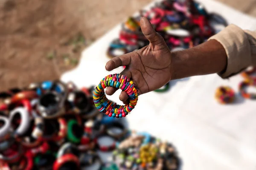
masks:
POLYGON ((113 152, 120 170, 178 170, 180 160, 172 144, 148 133, 132 133, 113 152))

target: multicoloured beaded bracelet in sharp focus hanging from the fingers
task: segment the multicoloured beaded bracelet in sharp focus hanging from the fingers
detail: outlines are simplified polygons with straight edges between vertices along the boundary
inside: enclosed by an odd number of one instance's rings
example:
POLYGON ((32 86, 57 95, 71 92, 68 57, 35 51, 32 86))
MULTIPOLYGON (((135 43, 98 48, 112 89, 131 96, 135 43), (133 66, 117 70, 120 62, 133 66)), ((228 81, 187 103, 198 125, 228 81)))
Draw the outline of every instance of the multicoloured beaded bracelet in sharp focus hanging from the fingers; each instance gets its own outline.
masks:
POLYGON ((93 92, 93 102, 96 108, 109 117, 125 117, 134 109, 137 101, 138 89, 135 84, 129 78, 120 74, 106 76, 93 92), (122 91, 125 91, 129 95, 129 105, 121 106, 109 101, 104 93, 104 88, 106 87, 120 88, 122 91))

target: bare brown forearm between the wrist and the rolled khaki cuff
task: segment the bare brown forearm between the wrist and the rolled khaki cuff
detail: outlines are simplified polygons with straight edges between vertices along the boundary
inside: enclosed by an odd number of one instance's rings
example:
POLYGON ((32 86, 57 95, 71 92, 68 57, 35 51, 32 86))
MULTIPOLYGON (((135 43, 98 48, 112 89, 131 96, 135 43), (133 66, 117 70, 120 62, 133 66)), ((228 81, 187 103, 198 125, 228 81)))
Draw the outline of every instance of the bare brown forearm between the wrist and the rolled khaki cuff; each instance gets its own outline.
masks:
POLYGON ((224 47, 216 40, 209 40, 194 48, 171 52, 172 79, 219 73, 227 65, 224 47))

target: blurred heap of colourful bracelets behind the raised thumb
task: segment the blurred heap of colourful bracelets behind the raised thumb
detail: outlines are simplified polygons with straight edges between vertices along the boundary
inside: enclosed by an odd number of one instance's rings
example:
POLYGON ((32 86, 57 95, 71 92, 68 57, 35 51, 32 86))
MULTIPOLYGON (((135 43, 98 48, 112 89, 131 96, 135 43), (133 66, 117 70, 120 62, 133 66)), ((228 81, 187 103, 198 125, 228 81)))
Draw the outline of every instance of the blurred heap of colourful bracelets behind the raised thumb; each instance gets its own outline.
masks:
MULTIPOLYGON (((223 17, 208 13, 202 4, 194 0, 163 0, 122 23, 119 38, 113 40, 108 48, 108 57, 136 51, 149 44, 140 29, 142 16, 150 20, 153 28, 173 51, 199 45, 218 33, 218 28, 227 26, 223 17)), ((165 86, 157 92, 168 89, 169 86, 165 86)))

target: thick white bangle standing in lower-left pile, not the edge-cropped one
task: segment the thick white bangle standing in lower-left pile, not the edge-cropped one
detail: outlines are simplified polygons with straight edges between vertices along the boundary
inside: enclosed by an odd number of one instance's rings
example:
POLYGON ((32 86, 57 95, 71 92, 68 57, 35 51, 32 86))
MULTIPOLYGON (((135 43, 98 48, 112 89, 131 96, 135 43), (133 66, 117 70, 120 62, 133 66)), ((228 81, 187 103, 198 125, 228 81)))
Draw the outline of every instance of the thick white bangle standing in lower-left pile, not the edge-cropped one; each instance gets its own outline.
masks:
POLYGON ((15 117, 16 114, 20 114, 21 122, 17 129, 14 131, 14 135, 21 136, 26 133, 26 131, 30 127, 30 116, 25 108, 18 107, 10 112, 10 122, 12 122, 12 119, 15 117))

